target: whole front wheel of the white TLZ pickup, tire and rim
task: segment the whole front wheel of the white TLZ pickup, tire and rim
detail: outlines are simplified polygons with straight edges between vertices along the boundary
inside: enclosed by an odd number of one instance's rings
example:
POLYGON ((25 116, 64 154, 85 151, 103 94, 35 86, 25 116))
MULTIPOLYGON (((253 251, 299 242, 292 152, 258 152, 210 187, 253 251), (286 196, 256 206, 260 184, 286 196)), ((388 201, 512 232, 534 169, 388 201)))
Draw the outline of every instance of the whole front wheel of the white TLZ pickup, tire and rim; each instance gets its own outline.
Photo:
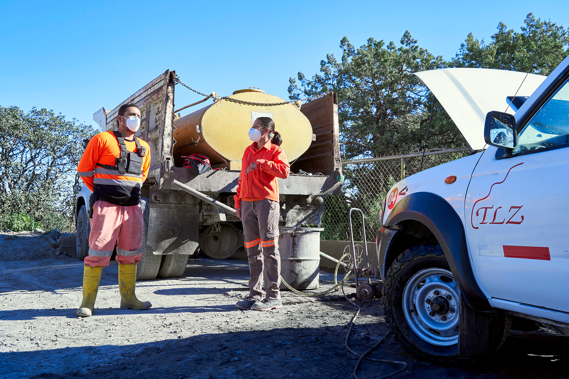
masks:
MULTIPOLYGON (((434 364, 471 361, 459 356, 460 288, 436 243, 414 246, 391 264, 381 298, 395 339, 417 359, 434 364)), ((498 315, 490 328, 490 352, 504 343, 512 319, 498 315)))

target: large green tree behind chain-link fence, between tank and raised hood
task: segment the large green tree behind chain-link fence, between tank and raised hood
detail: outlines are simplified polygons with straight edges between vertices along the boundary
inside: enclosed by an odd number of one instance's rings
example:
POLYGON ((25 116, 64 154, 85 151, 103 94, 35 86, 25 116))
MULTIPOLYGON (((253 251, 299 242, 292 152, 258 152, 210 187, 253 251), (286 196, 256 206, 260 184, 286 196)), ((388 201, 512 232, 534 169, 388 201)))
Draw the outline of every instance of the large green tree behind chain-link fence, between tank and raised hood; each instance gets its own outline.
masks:
MULTIPOLYGON (((290 78, 291 99, 338 93, 342 158, 397 155, 422 149, 430 114, 430 92, 415 72, 446 67, 442 56, 420 48, 409 32, 400 45, 368 39, 356 49, 343 38, 341 60, 333 54, 320 63, 312 79, 290 78)), ((464 146, 464 138, 437 108, 429 146, 464 146)))

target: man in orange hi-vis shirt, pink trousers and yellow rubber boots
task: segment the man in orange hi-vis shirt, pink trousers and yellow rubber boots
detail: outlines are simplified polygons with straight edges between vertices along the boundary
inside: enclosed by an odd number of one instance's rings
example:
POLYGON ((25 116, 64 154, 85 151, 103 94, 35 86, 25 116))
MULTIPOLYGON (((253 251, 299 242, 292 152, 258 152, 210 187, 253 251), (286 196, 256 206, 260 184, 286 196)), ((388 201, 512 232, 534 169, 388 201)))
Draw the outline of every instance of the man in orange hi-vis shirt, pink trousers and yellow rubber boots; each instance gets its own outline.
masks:
POLYGON ((149 171, 150 147, 134 137, 141 122, 137 105, 122 105, 117 121, 118 131, 105 131, 91 138, 77 167, 93 192, 89 199, 91 233, 89 256, 84 260, 83 303, 77 310, 81 317, 93 314, 102 268, 109 266, 117 240, 121 308, 151 307, 150 302, 139 301, 134 293, 144 232, 141 187, 149 171))

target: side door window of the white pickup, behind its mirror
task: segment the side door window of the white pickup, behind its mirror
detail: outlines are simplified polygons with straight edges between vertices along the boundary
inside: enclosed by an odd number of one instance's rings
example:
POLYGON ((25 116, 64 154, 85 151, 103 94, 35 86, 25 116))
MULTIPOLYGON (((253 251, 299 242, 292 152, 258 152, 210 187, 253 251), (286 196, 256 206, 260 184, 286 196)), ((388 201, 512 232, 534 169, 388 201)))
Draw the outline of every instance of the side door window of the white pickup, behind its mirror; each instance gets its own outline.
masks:
POLYGON ((569 143, 568 83, 566 80, 523 127, 516 153, 569 143))

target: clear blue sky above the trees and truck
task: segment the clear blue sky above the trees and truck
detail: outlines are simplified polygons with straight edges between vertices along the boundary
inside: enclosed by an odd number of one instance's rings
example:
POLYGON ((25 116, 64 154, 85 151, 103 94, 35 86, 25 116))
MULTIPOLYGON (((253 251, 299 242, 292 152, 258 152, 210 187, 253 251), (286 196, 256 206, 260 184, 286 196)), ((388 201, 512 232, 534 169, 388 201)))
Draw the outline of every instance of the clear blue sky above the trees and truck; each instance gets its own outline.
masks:
MULTIPOLYGON (((450 59, 469 32, 488 40, 500 21, 519 30, 529 12, 569 24, 566 1, 1 0, 0 105, 96 126, 96 110, 113 109, 166 69, 204 93, 255 86, 288 98, 288 78, 314 75, 327 53, 339 56, 344 36, 361 46, 369 37, 398 42, 409 30, 450 59)), ((176 86, 177 108, 196 100, 176 86)))

